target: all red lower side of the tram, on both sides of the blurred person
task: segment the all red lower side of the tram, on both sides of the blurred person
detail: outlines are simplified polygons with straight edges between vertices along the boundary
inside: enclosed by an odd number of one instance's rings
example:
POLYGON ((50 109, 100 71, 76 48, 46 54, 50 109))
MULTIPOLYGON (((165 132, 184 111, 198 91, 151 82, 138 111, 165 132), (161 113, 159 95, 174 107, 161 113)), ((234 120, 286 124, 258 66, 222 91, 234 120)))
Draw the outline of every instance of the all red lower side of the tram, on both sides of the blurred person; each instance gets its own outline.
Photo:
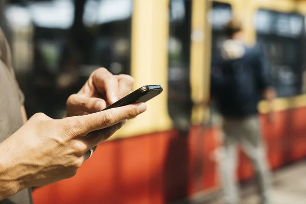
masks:
MULTIPOLYGON (((306 109, 277 113, 274 123, 261 116, 272 168, 306 156, 306 109)), ((40 189, 39 203, 168 203, 200 190, 218 187, 213 154, 217 129, 192 127, 189 136, 176 131, 105 142, 72 179, 40 189)), ((240 179, 253 175, 240 153, 240 179)))

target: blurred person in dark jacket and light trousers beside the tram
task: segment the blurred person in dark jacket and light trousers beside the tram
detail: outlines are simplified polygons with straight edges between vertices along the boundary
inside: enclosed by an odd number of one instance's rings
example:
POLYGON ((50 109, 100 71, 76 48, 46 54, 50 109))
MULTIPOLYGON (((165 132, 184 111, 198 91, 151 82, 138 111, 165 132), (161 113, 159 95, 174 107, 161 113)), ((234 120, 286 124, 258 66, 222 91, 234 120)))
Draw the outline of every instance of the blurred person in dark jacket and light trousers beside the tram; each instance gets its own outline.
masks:
POLYGON ((268 61, 260 46, 246 46, 238 19, 226 24, 224 34, 227 39, 212 61, 211 99, 223 117, 220 176, 225 201, 239 202, 235 174, 236 147, 241 145, 257 174, 261 203, 269 203, 270 172, 257 110, 262 97, 269 102, 275 97, 268 61))

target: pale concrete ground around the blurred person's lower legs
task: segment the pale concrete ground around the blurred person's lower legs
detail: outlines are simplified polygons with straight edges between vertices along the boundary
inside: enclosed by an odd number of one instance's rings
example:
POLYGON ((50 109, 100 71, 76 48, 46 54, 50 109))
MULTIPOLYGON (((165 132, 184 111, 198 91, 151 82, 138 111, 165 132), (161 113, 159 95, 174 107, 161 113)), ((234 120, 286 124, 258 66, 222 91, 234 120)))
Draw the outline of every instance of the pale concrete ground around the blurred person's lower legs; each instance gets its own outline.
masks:
MULTIPOLYGON (((259 196, 253 181, 241 185, 241 204, 258 204, 259 196)), ((273 172, 270 204, 306 204, 306 161, 290 164, 273 172)), ((221 192, 198 194, 188 204, 224 204, 221 192)))

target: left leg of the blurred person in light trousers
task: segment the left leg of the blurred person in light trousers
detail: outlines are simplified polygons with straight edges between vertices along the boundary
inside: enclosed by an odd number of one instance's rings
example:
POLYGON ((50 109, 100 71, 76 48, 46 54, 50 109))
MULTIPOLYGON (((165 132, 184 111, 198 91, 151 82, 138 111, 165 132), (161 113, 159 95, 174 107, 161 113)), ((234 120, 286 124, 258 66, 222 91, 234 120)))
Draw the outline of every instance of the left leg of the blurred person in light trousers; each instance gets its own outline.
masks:
POLYGON ((223 124, 223 145, 219 157, 219 170, 222 190, 225 203, 237 204, 239 202, 238 187, 236 185, 237 166, 237 139, 235 127, 231 121, 224 121, 223 124))

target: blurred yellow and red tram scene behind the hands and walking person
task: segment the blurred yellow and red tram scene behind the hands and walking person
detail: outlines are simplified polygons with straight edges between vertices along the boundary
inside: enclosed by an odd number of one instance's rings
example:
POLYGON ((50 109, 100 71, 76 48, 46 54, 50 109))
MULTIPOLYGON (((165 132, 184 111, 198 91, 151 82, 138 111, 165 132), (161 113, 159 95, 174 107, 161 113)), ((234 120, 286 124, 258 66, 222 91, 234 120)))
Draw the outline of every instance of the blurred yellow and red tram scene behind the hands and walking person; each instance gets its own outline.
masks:
MULTIPOLYGON (((217 203, 220 120, 213 107, 196 104, 209 100, 211 56, 234 16, 243 22, 247 43, 261 43, 271 65, 273 123, 266 101, 259 111, 281 198, 275 203, 304 203, 306 1, 2 0, 0 26, 28 117, 63 117, 68 96, 98 67, 131 74, 135 89, 164 87, 77 176, 36 189, 34 202, 217 203)), ((257 203, 254 172, 242 152, 237 175, 242 203, 257 203)))

